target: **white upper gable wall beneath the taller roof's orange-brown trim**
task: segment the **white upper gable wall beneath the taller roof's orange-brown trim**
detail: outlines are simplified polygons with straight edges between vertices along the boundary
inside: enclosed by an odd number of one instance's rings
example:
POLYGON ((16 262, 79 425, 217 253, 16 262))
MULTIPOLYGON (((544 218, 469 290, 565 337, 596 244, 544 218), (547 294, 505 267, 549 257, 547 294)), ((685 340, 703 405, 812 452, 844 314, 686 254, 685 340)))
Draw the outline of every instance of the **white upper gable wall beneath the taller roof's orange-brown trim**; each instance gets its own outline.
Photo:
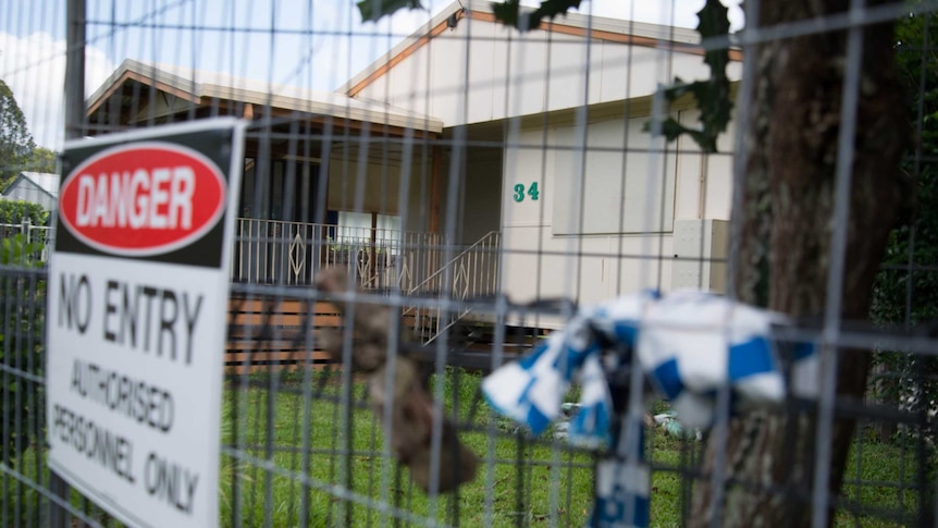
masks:
MULTIPOLYGON (((621 22, 627 28, 628 22, 621 22)), ((738 79, 741 64, 728 73, 738 79)), ((356 97, 409 109, 446 126, 649 96, 671 75, 705 78, 698 54, 461 20, 356 97)))

